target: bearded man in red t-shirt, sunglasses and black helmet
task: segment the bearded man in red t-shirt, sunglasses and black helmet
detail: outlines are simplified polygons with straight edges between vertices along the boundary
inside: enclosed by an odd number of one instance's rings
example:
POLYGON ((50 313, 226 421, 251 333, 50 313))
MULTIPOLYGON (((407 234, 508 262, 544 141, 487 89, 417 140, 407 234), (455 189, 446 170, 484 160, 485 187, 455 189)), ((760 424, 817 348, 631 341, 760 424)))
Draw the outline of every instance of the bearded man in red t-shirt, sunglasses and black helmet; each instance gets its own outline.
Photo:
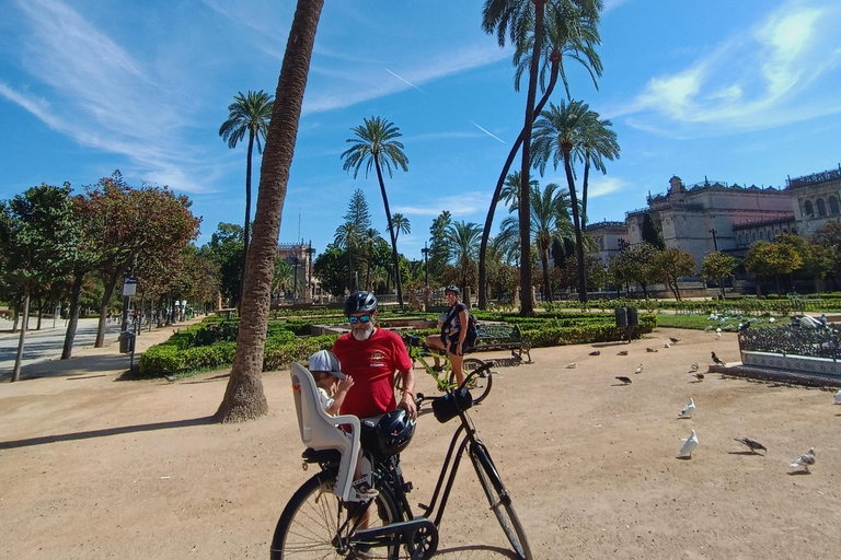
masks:
POLYGON ((400 407, 415 420, 412 360, 398 334, 376 326, 377 306, 377 296, 365 291, 352 293, 345 302, 350 332, 338 337, 333 343, 333 353, 342 362, 343 371, 353 376, 354 386, 339 413, 375 418, 400 407), (403 395, 399 404, 394 398, 395 372, 403 377, 403 395))

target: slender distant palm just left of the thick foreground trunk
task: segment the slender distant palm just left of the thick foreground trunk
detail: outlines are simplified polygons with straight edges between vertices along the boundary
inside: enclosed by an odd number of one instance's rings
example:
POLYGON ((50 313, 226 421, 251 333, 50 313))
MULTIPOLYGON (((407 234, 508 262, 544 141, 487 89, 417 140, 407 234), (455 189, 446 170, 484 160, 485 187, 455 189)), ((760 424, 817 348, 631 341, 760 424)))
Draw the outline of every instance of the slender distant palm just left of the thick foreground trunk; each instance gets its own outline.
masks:
MULTIPOLYGON (((251 226, 251 158, 254 151, 254 142, 257 142, 257 153, 263 153, 263 142, 268 132, 268 122, 272 118, 272 108, 274 101, 272 96, 263 90, 258 92, 249 91, 247 95, 242 92, 233 97, 233 103, 228 106, 228 120, 222 122, 219 128, 219 136, 228 142, 228 147, 233 149, 249 135, 249 154, 245 160, 245 225, 243 228, 244 247, 242 252, 242 275, 240 287, 244 285, 245 262, 249 258, 249 228, 251 226)), ((242 290, 240 290, 240 302, 242 302, 242 290)))

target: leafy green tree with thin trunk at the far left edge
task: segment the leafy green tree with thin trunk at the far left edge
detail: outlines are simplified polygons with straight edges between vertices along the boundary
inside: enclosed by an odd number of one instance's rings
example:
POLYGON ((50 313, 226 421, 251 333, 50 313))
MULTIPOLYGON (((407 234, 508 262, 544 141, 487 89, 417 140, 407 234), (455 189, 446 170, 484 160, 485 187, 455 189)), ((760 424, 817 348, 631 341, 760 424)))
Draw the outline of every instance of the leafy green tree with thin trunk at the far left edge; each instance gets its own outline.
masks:
POLYGON ((30 317, 30 296, 38 285, 69 277, 76 259, 78 222, 70 185, 42 184, 0 202, 0 253, 4 283, 23 294, 23 325, 11 381, 21 377, 21 360, 30 317))

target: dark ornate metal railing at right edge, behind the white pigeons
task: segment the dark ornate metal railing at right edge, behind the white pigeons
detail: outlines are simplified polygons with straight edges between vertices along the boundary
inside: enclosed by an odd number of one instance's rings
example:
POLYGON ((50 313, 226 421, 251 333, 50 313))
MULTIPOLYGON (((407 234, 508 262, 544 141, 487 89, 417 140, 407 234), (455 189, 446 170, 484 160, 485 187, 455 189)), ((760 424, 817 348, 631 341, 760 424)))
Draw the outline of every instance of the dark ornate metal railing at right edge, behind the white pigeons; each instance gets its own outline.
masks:
POLYGON ((739 332, 739 350, 783 355, 841 359, 841 334, 832 328, 749 328, 739 332))

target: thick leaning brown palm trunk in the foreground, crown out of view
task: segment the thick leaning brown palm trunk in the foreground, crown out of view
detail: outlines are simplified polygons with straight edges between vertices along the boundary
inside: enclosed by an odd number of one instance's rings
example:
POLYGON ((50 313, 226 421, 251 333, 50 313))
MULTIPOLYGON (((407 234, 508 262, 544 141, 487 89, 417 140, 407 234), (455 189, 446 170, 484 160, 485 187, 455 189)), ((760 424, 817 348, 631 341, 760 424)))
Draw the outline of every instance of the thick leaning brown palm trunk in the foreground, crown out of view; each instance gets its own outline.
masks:
POLYGON ((251 420, 268 411, 261 372, 277 238, 315 30, 323 5, 324 0, 298 0, 292 19, 263 152, 254 238, 249 249, 249 273, 245 275, 245 298, 242 302, 237 352, 224 397, 214 416, 218 422, 251 420))

